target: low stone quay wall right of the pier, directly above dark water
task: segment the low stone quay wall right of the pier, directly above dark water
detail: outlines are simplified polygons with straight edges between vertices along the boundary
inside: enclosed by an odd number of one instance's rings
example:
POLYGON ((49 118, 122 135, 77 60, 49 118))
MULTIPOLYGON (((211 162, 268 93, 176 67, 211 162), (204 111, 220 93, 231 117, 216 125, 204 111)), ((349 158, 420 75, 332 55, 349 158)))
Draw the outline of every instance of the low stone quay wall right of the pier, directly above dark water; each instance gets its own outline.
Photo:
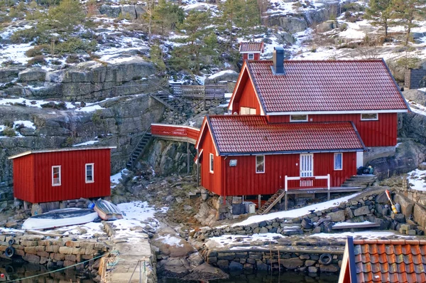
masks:
POLYGON ((222 270, 295 270, 299 272, 339 272, 342 265, 344 242, 339 250, 295 251, 286 247, 274 247, 247 250, 202 250, 204 260, 222 270), (328 254, 331 262, 320 261, 321 255, 328 254), (327 263, 327 264, 324 264, 327 263))

